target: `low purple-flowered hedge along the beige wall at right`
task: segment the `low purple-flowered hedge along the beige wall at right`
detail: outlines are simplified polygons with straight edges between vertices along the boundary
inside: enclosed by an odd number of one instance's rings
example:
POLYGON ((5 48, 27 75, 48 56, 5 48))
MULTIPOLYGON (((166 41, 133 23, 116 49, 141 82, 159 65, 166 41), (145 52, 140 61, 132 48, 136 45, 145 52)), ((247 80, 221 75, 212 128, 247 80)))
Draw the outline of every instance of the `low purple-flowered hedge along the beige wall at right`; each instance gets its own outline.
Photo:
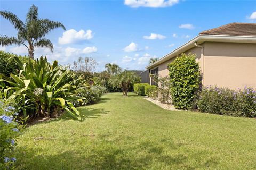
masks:
POLYGON ((239 117, 256 117, 256 91, 245 87, 231 90, 203 87, 197 101, 201 112, 239 117))

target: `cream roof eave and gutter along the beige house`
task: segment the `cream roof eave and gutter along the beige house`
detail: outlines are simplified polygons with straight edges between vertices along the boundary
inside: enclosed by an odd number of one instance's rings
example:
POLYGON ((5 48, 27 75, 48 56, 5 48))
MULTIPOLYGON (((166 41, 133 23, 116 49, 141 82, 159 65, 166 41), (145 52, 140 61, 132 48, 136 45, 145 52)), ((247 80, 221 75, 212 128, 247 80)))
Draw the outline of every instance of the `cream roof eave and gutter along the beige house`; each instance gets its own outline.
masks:
MULTIPOLYGON (((204 43, 205 41, 212 41, 212 42, 227 42, 227 43, 256 43, 256 36, 228 36, 228 35, 198 35, 195 38, 189 40, 187 43, 183 44, 182 46, 174 49, 171 53, 166 54, 156 62, 146 66, 146 69, 152 69, 153 67, 157 66, 158 64, 162 64, 163 62, 170 60, 171 58, 186 52, 188 48, 193 48, 194 43, 204 43)), ((189 48, 189 49, 190 49, 189 48)))

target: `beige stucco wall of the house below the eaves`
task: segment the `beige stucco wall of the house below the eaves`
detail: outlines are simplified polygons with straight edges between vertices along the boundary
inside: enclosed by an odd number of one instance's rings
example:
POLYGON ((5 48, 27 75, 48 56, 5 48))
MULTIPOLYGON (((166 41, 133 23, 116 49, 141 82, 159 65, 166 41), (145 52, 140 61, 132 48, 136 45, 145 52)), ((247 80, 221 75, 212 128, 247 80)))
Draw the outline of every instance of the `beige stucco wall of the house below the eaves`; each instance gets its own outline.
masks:
MULTIPOLYGON (((196 54, 196 60, 203 73, 204 86, 256 88, 256 44, 205 42, 201 45, 204 46, 204 58, 201 57, 201 48, 198 47, 191 48, 185 53, 196 54)), ((156 66, 158 74, 162 77, 167 76, 167 65, 174 60, 175 57, 156 66)))

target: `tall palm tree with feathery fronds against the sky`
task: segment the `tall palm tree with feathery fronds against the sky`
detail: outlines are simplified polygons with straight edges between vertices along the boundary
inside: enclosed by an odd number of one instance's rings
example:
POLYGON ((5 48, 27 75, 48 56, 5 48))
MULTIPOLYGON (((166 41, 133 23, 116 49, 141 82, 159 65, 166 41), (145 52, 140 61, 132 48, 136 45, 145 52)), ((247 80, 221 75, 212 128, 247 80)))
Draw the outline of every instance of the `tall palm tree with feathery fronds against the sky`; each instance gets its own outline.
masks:
POLYGON ((38 7, 32 5, 26 15, 26 21, 23 23, 17 15, 9 11, 0 11, 3 18, 9 20, 15 29, 18 30, 17 37, 0 36, 0 45, 25 45, 28 49, 28 56, 34 58, 35 47, 46 47, 53 51, 52 42, 44 38, 50 31, 56 28, 66 30, 61 22, 50 21, 49 19, 38 18, 38 7), (26 42, 28 44, 26 44, 26 42))

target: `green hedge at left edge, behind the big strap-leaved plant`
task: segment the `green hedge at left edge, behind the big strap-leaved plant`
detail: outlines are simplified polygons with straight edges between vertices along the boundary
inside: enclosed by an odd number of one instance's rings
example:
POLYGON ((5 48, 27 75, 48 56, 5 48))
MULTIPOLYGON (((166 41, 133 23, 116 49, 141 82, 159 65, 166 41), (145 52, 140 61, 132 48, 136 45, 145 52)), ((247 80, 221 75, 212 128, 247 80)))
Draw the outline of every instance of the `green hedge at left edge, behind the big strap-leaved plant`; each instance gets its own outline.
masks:
POLYGON ((28 57, 22 57, 11 53, 0 51, 0 73, 9 76, 10 73, 17 74, 19 67, 12 57, 18 57, 22 63, 28 62, 28 57))

